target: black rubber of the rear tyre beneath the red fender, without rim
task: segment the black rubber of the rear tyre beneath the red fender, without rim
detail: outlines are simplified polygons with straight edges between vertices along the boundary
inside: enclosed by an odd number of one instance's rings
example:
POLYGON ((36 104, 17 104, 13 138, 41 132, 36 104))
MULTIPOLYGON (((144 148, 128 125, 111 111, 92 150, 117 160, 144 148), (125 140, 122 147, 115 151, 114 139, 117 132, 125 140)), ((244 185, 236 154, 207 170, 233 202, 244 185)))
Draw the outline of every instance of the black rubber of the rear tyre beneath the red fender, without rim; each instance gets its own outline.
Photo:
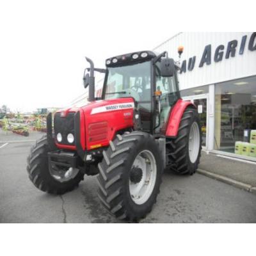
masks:
POLYGON ((202 131, 200 127, 200 118, 197 110, 194 108, 187 108, 184 111, 179 125, 177 138, 166 139, 166 157, 168 159, 168 167, 166 169, 172 170, 179 174, 193 175, 198 168, 202 149, 202 131), (200 140, 198 143, 198 156, 194 163, 191 163, 189 158, 189 131, 191 125, 196 122, 199 129, 200 140))

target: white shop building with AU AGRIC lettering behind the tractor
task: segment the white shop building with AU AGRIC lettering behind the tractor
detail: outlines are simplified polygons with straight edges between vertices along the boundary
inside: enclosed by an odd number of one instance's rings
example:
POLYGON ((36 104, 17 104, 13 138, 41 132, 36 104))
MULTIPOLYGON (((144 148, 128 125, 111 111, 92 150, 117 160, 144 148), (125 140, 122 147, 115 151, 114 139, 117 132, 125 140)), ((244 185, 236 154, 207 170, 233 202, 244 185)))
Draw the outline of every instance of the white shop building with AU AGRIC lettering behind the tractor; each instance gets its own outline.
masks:
POLYGON ((154 51, 175 59, 179 45, 181 95, 198 106, 204 148, 253 160, 233 154, 256 130, 256 33, 179 33, 154 51))

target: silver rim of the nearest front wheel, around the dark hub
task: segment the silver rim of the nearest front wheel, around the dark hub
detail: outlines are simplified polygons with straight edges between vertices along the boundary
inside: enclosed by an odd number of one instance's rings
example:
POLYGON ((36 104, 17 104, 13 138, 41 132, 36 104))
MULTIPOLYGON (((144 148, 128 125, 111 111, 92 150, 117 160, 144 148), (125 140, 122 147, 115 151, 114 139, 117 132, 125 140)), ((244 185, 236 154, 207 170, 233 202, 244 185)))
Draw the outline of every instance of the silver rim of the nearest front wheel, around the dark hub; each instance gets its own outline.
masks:
POLYGON ((136 182, 132 182, 130 177, 130 195, 136 204, 144 204, 147 202, 150 195, 152 195, 152 191, 156 184, 156 159, 152 152, 143 150, 134 159, 132 168, 136 168, 137 170, 140 169, 142 171, 142 176, 140 181, 136 180, 136 182))

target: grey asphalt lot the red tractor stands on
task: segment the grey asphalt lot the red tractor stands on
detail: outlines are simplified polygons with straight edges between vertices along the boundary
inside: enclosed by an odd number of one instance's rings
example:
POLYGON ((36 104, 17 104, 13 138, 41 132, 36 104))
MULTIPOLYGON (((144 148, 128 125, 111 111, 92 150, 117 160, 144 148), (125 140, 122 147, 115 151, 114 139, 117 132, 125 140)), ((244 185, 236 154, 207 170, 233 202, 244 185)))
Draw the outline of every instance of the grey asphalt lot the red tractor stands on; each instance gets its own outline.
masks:
MULTIPOLYGON (((62 196, 39 191, 28 179, 26 157, 35 139, 0 134, 1 223, 116 223, 97 198, 95 177, 62 196), (14 138, 15 137, 15 138, 14 138), (22 138, 22 139, 20 139, 22 138), (8 141, 7 141, 8 142, 8 141)), ((221 166, 220 166, 221 168, 221 166)), ((152 212, 141 223, 255 223, 256 195, 196 173, 164 173, 152 212)))

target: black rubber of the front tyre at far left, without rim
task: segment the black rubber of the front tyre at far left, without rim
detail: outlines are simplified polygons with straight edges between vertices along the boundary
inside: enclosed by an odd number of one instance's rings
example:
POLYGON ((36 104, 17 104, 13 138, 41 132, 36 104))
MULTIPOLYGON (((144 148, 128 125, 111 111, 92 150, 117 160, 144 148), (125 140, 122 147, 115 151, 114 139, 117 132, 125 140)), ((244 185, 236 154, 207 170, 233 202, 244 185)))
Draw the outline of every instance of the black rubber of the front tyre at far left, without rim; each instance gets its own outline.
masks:
POLYGON ((54 179, 49 172, 47 157, 47 152, 49 151, 52 150, 49 148, 46 135, 36 141, 36 144, 31 147, 31 152, 27 159, 27 170, 31 182, 33 182, 36 188, 57 195, 61 195, 76 188, 79 182, 83 180, 83 173, 78 172, 76 177, 67 182, 59 182, 54 179))

